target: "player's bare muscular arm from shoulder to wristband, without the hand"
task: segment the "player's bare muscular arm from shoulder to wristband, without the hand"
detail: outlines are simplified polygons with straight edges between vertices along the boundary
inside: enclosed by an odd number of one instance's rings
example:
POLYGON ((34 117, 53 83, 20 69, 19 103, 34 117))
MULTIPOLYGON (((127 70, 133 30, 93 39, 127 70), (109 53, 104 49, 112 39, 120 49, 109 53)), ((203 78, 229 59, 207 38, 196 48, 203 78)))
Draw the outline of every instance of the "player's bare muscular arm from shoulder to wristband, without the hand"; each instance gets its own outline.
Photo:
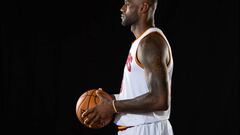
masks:
POLYGON ((118 112, 143 113, 168 109, 168 46, 161 35, 152 33, 138 47, 138 59, 144 66, 149 92, 129 100, 115 102, 118 112))

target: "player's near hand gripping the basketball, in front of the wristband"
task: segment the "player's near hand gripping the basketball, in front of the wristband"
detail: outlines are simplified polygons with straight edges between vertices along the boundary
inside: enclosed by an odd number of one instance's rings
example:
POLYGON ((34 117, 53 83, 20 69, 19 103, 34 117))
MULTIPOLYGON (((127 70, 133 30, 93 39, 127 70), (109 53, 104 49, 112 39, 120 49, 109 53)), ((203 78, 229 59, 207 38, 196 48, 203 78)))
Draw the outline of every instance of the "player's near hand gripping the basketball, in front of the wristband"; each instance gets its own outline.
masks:
POLYGON ((102 92, 102 89, 98 89, 96 92, 97 96, 100 98, 100 103, 94 108, 86 110, 82 117, 85 120, 84 123, 91 127, 94 124, 102 123, 105 124, 102 119, 112 117, 114 114, 112 100, 106 98, 106 95, 102 92))

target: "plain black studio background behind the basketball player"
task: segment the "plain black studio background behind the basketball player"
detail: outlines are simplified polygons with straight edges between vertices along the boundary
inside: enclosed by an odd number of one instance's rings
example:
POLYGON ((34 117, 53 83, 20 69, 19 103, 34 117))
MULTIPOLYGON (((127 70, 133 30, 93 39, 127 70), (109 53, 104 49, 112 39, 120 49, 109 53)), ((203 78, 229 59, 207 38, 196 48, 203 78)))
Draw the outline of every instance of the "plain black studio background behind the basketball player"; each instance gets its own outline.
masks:
MULTIPOLYGON (((118 93, 134 36, 123 1, 1 2, 1 132, 116 134, 83 127, 75 104, 87 89, 118 93)), ((176 135, 239 135, 238 0, 161 0, 156 26, 174 56, 176 135)), ((2 134, 1 133, 1 134, 2 134)))

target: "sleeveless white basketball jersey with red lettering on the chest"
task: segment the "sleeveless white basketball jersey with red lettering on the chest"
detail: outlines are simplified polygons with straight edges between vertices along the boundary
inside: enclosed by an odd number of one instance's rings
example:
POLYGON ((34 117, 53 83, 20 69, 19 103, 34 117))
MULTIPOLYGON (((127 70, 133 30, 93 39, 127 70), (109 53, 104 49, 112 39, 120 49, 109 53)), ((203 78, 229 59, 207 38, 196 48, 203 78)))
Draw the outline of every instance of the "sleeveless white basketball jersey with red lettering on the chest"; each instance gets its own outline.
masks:
MULTIPOLYGON (((116 100, 132 99, 149 92, 147 83, 145 80, 144 69, 139 65, 136 59, 136 52, 140 41, 149 33, 158 32, 166 40, 169 48, 170 62, 168 64, 169 74, 169 90, 171 89, 171 78, 173 69, 173 60, 170 45, 158 28, 147 29, 139 38, 133 43, 129 51, 129 55, 124 67, 124 74, 122 79, 121 92, 115 95, 116 100)), ((169 93, 171 93, 169 91, 169 93)), ((115 123, 122 126, 136 126, 146 123, 153 123, 160 120, 169 119, 170 115, 170 94, 169 94, 169 108, 166 111, 155 111, 149 113, 131 114, 131 113, 119 113, 116 115, 115 123)))

